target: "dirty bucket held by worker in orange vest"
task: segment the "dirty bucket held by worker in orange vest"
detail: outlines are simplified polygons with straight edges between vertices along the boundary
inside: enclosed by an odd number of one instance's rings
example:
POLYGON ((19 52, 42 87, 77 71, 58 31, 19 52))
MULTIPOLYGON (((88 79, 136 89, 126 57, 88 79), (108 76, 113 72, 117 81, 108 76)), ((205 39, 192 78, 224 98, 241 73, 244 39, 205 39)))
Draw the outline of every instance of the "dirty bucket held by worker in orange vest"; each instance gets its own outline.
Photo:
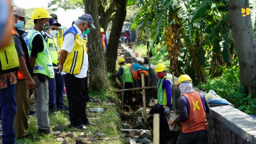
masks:
POLYGON ((166 114, 166 119, 168 122, 168 126, 169 126, 169 130, 171 132, 177 132, 181 130, 181 125, 178 126, 176 125, 176 127, 174 128, 174 125, 172 125, 173 121, 175 120, 175 118, 177 118, 179 116, 180 112, 179 111, 170 111, 169 113, 166 114))

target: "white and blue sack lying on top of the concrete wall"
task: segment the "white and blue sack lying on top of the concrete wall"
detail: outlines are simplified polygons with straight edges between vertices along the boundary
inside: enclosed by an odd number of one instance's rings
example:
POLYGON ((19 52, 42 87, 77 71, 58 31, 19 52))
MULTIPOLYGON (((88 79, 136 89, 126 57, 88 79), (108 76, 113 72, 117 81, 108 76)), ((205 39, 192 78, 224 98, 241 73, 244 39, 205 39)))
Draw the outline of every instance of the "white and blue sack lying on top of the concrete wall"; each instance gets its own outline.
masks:
POLYGON ((210 90, 207 95, 205 95, 205 99, 208 104, 216 104, 216 105, 231 105, 226 99, 221 98, 219 95, 216 94, 213 90, 210 90))

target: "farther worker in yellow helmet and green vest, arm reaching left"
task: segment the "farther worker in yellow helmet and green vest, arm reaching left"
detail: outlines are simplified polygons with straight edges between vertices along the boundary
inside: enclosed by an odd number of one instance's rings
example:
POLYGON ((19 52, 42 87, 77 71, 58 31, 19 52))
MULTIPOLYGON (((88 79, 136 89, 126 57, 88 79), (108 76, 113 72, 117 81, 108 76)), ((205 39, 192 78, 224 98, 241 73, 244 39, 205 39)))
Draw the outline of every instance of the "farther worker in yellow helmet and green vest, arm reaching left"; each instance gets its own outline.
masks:
MULTIPOLYGON (((125 74, 125 89, 132 89, 133 85, 133 79, 131 75, 131 68, 127 65, 125 65, 125 59, 119 58, 118 60, 119 64, 119 70, 116 75, 112 75, 112 78, 120 76, 121 83, 123 84, 123 78, 125 74)), ((125 91, 124 92, 124 103, 127 105, 132 104, 132 92, 131 91, 125 91), (128 101, 128 102, 127 102, 128 101)))

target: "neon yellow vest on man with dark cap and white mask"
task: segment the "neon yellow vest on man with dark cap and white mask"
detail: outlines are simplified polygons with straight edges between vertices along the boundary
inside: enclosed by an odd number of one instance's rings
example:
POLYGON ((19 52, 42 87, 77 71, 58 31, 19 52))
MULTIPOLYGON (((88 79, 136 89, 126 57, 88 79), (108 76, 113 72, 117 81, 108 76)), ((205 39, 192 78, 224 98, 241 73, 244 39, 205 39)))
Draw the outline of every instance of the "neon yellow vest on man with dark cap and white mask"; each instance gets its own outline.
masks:
POLYGON ((48 48, 49 52, 51 53, 52 64, 57 65, 57 60, 58 60, 58 56, 59 56, 58 54, 60 51, 57 40, 48 37, 47 38, 47 48, 48 48))

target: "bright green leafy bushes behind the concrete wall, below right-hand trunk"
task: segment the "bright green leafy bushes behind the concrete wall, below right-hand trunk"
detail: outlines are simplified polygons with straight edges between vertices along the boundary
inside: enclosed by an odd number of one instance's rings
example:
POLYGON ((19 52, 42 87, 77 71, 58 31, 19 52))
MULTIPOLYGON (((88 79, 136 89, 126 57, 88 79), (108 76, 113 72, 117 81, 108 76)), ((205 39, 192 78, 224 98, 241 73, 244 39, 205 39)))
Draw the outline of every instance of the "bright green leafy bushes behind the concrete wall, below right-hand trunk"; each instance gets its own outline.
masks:
POLYGON ((221 98, 225 98, 237 109, 248 114, 256 115, 256 99, 252 95, 245 95, 245 89, 239 80, 239 69, 228 69, 222 67, 222 76, 207 80, 206 83, 198 85, 198 88, 207 91, 214 90, 221 98))

